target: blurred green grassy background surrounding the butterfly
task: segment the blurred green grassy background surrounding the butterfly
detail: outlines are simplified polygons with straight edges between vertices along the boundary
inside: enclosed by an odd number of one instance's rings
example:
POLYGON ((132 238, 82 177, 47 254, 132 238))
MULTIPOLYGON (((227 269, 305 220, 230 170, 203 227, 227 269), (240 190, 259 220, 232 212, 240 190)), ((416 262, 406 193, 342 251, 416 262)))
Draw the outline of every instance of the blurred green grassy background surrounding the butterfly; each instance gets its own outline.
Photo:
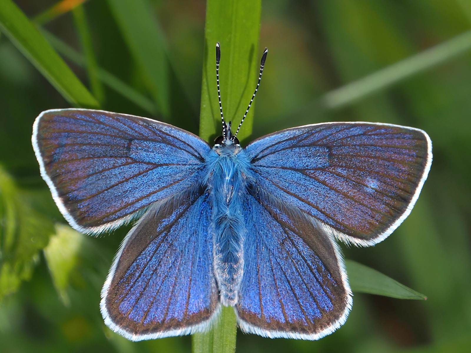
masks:
MULTIPOLYGON (((56 1, 15 3, 35 18, 56 1)), ((121 80, 102 85, 77 57, 71 60, 73 53, 65 57, 103 109, 198 133, 205 1, 148 2, 156 19, 154 40, 166 47, 155 60, 169 68, 167 110, 157 108, 163 115, 153 113, 159 100, 111 3, 89 0, 84 12, 36 18, 77 53, 87 54, 89 38, 101 77, 105 70, 121 80), (89 26, 80 25, 84 16, 89 26), (118 93, 120 84, 127 97, 118 93)), ((342 246, 345 257, 428 300, 357 294, 346 324, 328 337, 271 340, 238 332, 237 352, 471 352, 470 29, 468 0, 262 1, 259 47, 269 54, 251 138, 302 124, 357 120, 429 133, 434 160, 411 215, 372 248, 342 246), (353 86, 347 89, 348 83, 353 86)), ((66 227, 31 146, 35 117, 69 106, 2 34, 0 352, 190 352, 190 337, 131 343, 103 323, 99 291, 129 226, 98 238, 66 227), (16 229, 8 229, 11 224, 16 229)))

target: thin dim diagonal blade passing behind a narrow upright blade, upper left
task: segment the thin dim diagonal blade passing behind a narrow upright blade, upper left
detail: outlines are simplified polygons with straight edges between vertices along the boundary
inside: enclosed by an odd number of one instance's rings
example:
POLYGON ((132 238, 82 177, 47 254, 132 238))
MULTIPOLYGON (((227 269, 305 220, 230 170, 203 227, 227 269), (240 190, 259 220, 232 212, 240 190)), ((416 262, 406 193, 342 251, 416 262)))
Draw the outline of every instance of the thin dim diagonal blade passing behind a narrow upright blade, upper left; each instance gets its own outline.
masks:
MULTIPOLYGON (((49 33, 48 31, 41 29, 44 37, 49 41, 49 43, 54 47, 61 55, 65 56, 67 59, 71 60, 74 64, 84 67, 85 66, 85 57, 77 52, 74 48, 70 47, 62 40, 57 38, 54 34, 49 33)), ((134 104, 138 105, 147 112, 155 115, 157 110, 155 108, 154 102, 142 95, 138 90, 132 88, 122 80, 118 79, 112 73, 102 69, 101 67, 97 68, 98 78, 109 88, 114 89, 116 92, 121 94, 123 97, 126 97, 134 104)))

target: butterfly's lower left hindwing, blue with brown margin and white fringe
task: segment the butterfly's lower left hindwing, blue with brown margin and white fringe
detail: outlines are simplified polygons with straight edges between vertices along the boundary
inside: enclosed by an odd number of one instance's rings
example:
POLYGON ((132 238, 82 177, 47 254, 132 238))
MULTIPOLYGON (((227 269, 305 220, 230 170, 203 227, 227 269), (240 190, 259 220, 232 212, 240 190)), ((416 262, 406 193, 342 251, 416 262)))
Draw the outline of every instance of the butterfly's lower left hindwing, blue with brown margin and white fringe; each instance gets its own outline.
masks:
POLYGON ((207 329, 219 311, 210 223, 202 190, 151 207, 106 279, 100 305, 106 325, 133 341, 207 329))

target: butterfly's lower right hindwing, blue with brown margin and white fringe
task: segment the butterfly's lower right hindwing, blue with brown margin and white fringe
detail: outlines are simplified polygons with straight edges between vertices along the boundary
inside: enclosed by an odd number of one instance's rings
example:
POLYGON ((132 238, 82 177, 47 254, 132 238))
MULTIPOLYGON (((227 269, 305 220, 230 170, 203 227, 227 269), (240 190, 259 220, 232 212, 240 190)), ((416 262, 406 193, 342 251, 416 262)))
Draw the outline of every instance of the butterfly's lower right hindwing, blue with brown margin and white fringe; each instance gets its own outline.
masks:
POLYGON ((316 221, 252 192, 245 205, 240 328, 264 337, 319 339, 340 327, 352 305, 336 244, 316 221))

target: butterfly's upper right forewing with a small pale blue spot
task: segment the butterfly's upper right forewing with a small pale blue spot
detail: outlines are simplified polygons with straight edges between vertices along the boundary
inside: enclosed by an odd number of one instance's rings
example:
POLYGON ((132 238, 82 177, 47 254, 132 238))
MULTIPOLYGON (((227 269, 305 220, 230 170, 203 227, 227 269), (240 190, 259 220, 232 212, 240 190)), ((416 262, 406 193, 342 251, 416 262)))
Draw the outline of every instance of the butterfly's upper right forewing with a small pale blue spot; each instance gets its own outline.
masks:
POLYGON ((408 216, 432 159, 424 131, 364 122, 278 131, 246 152, 257 185, 361 245, 382 241, 408 216))

